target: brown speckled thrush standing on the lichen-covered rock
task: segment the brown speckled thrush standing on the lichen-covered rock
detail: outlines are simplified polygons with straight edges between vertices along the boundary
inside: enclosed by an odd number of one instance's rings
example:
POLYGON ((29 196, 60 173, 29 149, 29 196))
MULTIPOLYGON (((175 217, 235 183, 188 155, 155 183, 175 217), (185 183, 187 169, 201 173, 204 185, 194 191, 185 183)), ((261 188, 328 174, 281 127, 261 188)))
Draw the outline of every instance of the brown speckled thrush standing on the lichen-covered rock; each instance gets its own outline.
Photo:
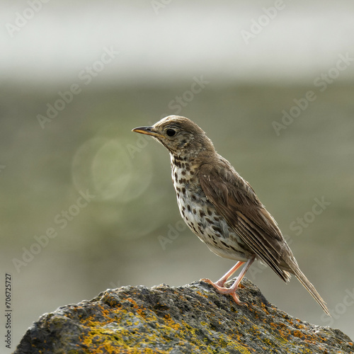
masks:
MULTIPOLYGON (((217 282, 203 279, 217 292, 241 302, 237 287, 257 260, 268 265, 282 280, 291 275, 301 282, 324 312, 326 302, 299 268, 274 217, 265 209, 251 185, 215 150, 206 133, 192 120, 169 115, 152 126, 132 132, 150 135, 169 150, 173 187, 178 209, 190 230, 217 256, 237 263, 217 282), (231 287, 225 282, 239 269, 231 287)), ((248 305, 248 304, 246 304, 248 305)))

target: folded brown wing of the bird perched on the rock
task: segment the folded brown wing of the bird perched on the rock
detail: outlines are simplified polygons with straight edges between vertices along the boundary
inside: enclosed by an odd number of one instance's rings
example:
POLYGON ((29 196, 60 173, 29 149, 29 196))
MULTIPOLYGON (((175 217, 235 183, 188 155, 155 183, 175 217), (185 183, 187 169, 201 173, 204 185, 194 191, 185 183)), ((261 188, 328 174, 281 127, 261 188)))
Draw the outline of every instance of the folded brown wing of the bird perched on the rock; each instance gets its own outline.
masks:
POLYGON ((282 280, 290 280, 290 274, 280 266, 284 263, 282 254, 290 249, 275 219, 265 210, 249 183, 226 160, 202 165, 199 178, 207 199, 249 249, 282 280))

